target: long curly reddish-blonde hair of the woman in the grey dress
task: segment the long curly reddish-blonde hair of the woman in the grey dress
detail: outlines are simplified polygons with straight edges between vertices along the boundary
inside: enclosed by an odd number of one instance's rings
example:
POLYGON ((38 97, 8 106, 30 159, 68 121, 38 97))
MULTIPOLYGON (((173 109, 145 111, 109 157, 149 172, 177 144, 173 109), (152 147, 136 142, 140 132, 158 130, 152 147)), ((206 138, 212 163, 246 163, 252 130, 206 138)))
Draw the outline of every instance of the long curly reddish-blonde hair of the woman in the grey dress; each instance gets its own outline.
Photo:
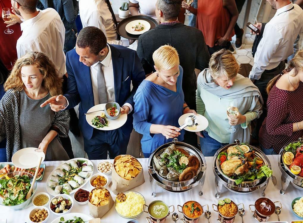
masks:
POLYGON ((62 94, 63 79, 59 76, 54 63, 42 52, 29 52, 15 62, 4 84, 5 91, 9 89, 22 91, 25 88, 21 78, 21 68, 28 65, 35 65, 39 69, 43 76, 42 86, 51 96, 62 94))

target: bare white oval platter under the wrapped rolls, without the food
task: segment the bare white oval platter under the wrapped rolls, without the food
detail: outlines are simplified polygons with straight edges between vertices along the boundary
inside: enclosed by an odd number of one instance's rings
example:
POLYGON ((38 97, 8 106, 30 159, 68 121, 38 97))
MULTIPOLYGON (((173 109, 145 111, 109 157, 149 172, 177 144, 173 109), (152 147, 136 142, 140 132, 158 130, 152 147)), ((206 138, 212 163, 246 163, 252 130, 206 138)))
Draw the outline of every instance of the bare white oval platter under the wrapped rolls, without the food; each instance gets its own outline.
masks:
MULTIPOLYGON (((87 184, 87 182, 89 182, 89 179, 90 177, 92 176, 92 173, 94 171, 94 165, 92 163, 92 161, 88 160, 88 159, 85 159, 85 158, 74 158, 74 159, 70 159, 70 160, 67 160, 67 161, 63 161, 60 165, 58 165, 57 167, 55 167, 55 169, 50 173, 50 175, 48 176, 47 178, 47 181, 46 181, 46 191, 50 194, 50 195, 53 195, 53 196, 57 196, 57 195, 60 195, 60 194, 56 194, 54 190, 52 190, 52 188, 50 188, 48 186, 48 183, 49 182, 54 182, 54 181, 51 181, 51 176, 58 176, 55 171, 57 169, 63 169, 63 165, 66 163, 69 165, 70 161, 75 161, 77 162, 77 160, 80 160, 80 161, 84 161, 84 163, 86 163, 87 165, 92 165, 93 166, 93 170, 92 171, 88 171, 88 176, 86 178, 83 178, 84 179, 84 183, 82 185, 79 185, 79 187, 75 188, 75 189, 72 189, 72 191, 69 191, 68 193, 71 195, 73 193, 75 193, 78 189, 82 188, 85 184, 87 184)), ((69 165, 70 166, 70 165, 69 165)), ((65 171, 66 172, 66 171, 65 171)), ((85 171, 86 172, 86 171, 85 171)), ((76 173, 76 172, 73 172, 73 173, 76 173)), ((66 175, 66 173, 65 173, 66 175)), ((71 174, 70 174, 71 175, 71 174)), ((58 176, 59 177, 59 176, 58 176)), ((74 180, 73 179, 73 176, 71 176, 71 179, 70 180, 74 180)), ((65 182, 67 183, 67 181, 65 182)), ((59 185, 63 185, 63 183, 59 183, 59 185)), ((72 188, 72 186, 71 186, 72 188)))

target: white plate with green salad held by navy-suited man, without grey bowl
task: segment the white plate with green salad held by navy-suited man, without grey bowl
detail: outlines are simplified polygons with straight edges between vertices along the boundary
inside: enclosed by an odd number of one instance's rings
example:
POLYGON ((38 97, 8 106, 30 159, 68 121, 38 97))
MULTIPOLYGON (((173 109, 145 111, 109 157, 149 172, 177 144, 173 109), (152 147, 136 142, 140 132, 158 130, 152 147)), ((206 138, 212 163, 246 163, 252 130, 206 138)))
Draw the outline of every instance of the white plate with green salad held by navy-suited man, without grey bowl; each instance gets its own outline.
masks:
MULTIPOLYGON (((106 118, 104 110, 106 104, 99 104, 95 105, 92 108, 90 108, 87 113, 93 112, 86 115, 86 121, 87 123, 92 126, 93 128, 99 129, 99 130, 115 130, 117 128, 120 128, 122 125, 125 124, 127 120, 127 114, 121 114, 119 118, 117 119, 109 119, 106 118), (99 111, 99 112, 94 112, 99 111)), ((120 108, 121 111, 123 111, 123 108, 120 108)))

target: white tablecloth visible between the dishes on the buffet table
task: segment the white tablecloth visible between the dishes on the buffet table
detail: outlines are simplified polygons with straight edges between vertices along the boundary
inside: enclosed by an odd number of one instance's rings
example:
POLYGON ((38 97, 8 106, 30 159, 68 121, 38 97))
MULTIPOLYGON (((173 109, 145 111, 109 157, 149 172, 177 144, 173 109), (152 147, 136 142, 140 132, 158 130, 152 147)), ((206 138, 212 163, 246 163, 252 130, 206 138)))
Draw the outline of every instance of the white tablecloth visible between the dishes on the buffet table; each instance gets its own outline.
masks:
MULTIPOLYGON (((281 201, 283 208, 282 212, 280 214, 280 220, 281 221, 288 221, 291 222, 291 220, 299 220, 297 216, 295 216, 292 213, 291 210, 291 201, 294 198, 297 198, 299 196, 303 196, 303 191, 300 191, 293 186, 289 185, 287 188, 287 191, 285 195, 280 195, 280 189, 281 189, 281 172, 278 168, 278 155, 269 155, 268 158, 270 159, 272 169, 274 171, 274 175, 277 178, 277 186, 275 187, 270 180, 270 183, 265 191, 266 197, 271 198, 273 201, 281 201)), ((170 193, 168 191, 164 191, 162 188, 158 187, 156 188, 157 196, 153 198, 151 196, 152 189, 151 189, 151 183, 149 181, 149 175, 148 175, 148 169, 147 169, 147 161, 148 159, 146 158, 140 158, 138 159, 143 168, 144 168, 144 178, 145 178, 145 183, 132 189, 135 191, 140 192, 146 199, 146 203, 149 204, 153 200, 163 200, 165 201, 168 205, 175 205, 175 212, 178 213, 177 211, 177 205, 183 205, 185 201, 189 200, 195 200, 198 201, 201 205, 208 204, 209 208, 211 209, 212 204, 217 204, 218 199, 215 198, 216 194, 216 189, 215 189, 215 176, 212 171, 212 157, 206 157, 206 164, 207 164, 207 171, 206 171, 206 179, 205 179, 205 184, 203 186, 203 195, 199 196, 198 192, 198 186, 194 188, 191 191, 187 191, 184 193, 180 194, 175 194, 175 193, 170 193)), ((37 192, 46 192, 46 180, 48 178, 48 175, 51 173, 51 171, 57 167, 60 163, 63 161, 50 161, 50 162, 44 162, 46 164, 46 170, 45 174, 43 177, 42 181, 38 181, 38 186, 37 186, 37 192)), ((97 171, 97 165, 100 162, 100 160, 92 160, 94 164, 94 174, 98 173, 97 171)), ((84 188, 87 188, 89 190, 92 189, 92 187, 87 183, 84 188)), ((115 200, 115 195, 111 192, 113 199, 115 200)), ((224 198, 230 198, 231 200, 235 201, 237 204, 243 202, 245 205, 245 211, 246 214, 243 217, 245 223, 253 223, 253 222, 258 222, 252 217, 252 213, 248 209, 248 205, 254 204, 255 201, 260 198, 262 195, 262 191, 255 191, 253 193, 247 194, 247 195, 238 195, 231 193, 229 191, 226 191, 221 194, 220 199, 224 198)), ((73 195, 72 195, 73 197, 73 195)), ((52 196, 51 196, 52 198, 52 196)), ((1 206, 0 209, 0 219, 7 218, 8 223, 24 223, 24 222, 30 222, 28 219, 29 211, 33 209, 33 205, 29 205, 27 208, 24 210, 20 211, 14 211, 8 207, 3 207, 1 206)), ((217 212, 211 211, 211 219, 210 222, 215 223, 217 222, 218 214, 217 212)), ((81 212, 84 214, 89 215, 89 210, 88 210, 88 205, 78 205, 76 202, 71 210, 71 212, 81 212)), ((180 218, 183 216, 181 213, 178 213, 179 215, 179 220, 177 222, 181 222, 180 218)), ((51 214, 48 220, 48 223, 52 222, 55 218, 57 218, 57 215, 51 214)), ((139 222, 147 222, 146 217, 148 217, 147 213, 143 213, 139 218, 136 220, 139 222)), ((271 218, 269 219, 270 221, 278 221, 277 215, 273 214, 271 218)), ((120 217, 116 211, 114 206, 109 210, 106 215, 104 215, 101 219, 102 223, 110 223, 110 222, 115 222, 115 223, 126 223, 128 219, 124 219, 120 217)), ((0 221, 1 222, 1 221, 0 221)), ((171 215, 168 216, 166 222, 174 222, 171 219, 171 215)), ((207 222, 207 219, 204 217, 204 215, 201 217, 199 222, 207 222)), ((241 217, 239 215, 236 216, 235 218, 235 223, 241 222, 241 217)))

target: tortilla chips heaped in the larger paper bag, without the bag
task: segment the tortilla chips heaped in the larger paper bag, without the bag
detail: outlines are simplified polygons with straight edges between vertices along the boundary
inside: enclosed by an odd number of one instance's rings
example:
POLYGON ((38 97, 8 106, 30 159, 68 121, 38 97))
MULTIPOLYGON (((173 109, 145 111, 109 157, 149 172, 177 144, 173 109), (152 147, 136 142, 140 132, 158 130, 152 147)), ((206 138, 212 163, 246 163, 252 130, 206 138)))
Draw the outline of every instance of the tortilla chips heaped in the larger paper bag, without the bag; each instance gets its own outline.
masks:
POLYGON ((142 165, 137 159, 130 155, 121 156, 115 163, 115 170, 117 174, 125 180, 131 180, 138 176, 142 170, 142 165))

